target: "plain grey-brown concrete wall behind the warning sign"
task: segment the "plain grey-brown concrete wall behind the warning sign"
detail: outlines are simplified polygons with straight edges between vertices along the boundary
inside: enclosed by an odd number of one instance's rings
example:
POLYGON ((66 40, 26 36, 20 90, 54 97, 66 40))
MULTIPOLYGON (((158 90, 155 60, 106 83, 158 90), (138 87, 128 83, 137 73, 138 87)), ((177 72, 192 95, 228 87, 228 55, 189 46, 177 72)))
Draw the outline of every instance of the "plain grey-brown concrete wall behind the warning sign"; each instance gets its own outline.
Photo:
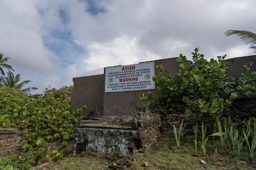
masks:
MULTIPOLYGON (((175 76, 179 70, 179 65, 176 58, 155 60, 156 65, 163 65, 165 70, 168 70, 171 75, 175 76)), ((252 70, 256 70, 256 55, 229 59, 230 62, 228 73, 232 76, 241 76, 244 71, 244 63, 248 61, 255 62, 252 65, 252 70)), ((155 68, 155 75, 158 76, 158 69, 155 68)), ((87 105, 88 111, 95 111, 98 108, 100 115, 115 116, 115 115, 135 115, 137 109, 143 107, 139 95, 147 91, 129 91, 129 92, 111 92, 105 93, 105 76, 86 76, 82 78, 74 78, 74 92, 72 94, 72 105, 75 108, 80 108, 82 105, 87 105)), ((153 90, 156 93, 156 90, 153 90)), ((95 115, 97 116, 97 115, 95 115)))

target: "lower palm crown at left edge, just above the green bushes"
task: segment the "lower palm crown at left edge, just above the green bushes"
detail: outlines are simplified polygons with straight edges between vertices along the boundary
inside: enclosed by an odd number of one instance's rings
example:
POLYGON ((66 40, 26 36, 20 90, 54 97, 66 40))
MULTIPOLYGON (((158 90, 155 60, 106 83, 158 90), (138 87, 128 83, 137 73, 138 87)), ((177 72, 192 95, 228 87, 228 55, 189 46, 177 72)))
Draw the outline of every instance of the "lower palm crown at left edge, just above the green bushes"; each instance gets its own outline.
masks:
POLYGON ((20 89, 22 91, 30 92, 30 90, 38 89, 37 87, 28 87, 26 89, 22 89, 22 87, 25 84, 30 83, 30 80, 22 81, 22 83, 19 83, 20 81, 20 74, 17 74, 14 76, 14 73, 12 71, 7 72, 7 76, 0 77, 0 86, 9 86, 16 89, 20 89))

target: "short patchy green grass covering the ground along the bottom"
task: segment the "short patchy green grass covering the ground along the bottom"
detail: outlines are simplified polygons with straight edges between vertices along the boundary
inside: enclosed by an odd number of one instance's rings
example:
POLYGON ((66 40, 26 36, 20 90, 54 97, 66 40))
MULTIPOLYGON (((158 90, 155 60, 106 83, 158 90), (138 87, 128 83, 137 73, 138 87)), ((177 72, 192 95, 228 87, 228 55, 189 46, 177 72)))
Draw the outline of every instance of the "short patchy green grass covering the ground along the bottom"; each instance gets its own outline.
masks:
MULTIPOLYGON (((177 147, 174 138, 161 138, 144 153, 124 158, 133 162, 132 166, 124 169, 256 169, 255 160, 249 159, 246 148, 241 158, 237 159, 228 145, 222 146, 219 140, 209 141, 207 156, 203 156, 199 149, 198 153, 195 153, 194 144, 191 141, 183 142, 181 147, 177 147), (198 159, 205 160, 207 163, 200 164, 198 159), (223 165, 218 166, 218 161, 223 165), (147 167, 142 166, 145 162, 148 163, 147 167)), ((108 166, 113 163, 105 155, 82 152, 74 157, 50 162, 46 167, 49 169, 108 169, 108 166)))

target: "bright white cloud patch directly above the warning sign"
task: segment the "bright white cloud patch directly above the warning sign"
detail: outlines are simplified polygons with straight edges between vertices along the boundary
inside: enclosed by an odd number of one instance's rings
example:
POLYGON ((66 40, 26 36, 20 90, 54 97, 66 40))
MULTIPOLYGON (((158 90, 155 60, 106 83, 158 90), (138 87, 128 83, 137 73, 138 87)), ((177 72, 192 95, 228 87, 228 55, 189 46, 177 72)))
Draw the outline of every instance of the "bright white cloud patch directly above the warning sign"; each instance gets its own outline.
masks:
POLYGON ((87 49, 88 57, 83 60, 87 71, 160 59, 160 56, 140 47, 136 38, 128 36, 122 36, 106 43, 92 43, 87 49))

